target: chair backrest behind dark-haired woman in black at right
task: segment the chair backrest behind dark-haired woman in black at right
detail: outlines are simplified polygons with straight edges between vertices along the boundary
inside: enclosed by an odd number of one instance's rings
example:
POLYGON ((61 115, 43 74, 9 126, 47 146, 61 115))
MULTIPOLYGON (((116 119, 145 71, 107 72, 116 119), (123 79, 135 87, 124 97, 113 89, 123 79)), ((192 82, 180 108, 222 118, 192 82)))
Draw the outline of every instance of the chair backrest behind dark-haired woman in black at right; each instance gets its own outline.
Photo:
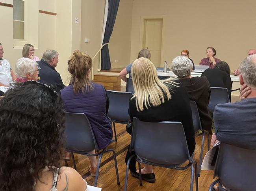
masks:
POLYGON ((212 115, 217 104, 230 102, 228 89, 225 87, 211 87, 210 102, 208 104, 209 113, 212 115))

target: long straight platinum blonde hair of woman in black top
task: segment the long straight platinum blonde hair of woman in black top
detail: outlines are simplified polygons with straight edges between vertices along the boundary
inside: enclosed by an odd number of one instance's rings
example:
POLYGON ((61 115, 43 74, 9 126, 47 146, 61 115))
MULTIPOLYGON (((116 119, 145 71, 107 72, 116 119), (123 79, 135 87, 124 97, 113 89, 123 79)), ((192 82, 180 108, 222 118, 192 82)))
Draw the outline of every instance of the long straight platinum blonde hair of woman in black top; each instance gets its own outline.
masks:
POLYGON ((156 67, 147 58, 138 58, 132 64, 132 82, 134 96, 136 98, 137 111, 143 111, 151 106, 159 106, 165 102, 165 98, 172 98, 171 85, 177 86, 172 79, 160 80, 156 67), (169 85, 168 85, 169 84, 169 85))

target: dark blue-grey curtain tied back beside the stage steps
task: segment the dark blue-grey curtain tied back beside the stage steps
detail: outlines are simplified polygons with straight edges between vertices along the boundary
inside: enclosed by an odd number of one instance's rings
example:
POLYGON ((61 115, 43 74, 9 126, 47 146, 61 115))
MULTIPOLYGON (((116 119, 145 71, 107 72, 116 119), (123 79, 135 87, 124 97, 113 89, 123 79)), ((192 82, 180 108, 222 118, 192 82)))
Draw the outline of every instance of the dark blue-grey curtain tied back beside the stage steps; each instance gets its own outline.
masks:
MULTIPOLYGON (((106 22, 106 28, 105 28, 102 45, 109 42, 110 36, 113 31, 113 27, 115 24, 115 18, 117 16, 119 2, 120 0, 108 0, 108 18, 106 22)), ((101 49, 101 69, 102 70, 111 69, 108 45, 105 45, 101 49)))

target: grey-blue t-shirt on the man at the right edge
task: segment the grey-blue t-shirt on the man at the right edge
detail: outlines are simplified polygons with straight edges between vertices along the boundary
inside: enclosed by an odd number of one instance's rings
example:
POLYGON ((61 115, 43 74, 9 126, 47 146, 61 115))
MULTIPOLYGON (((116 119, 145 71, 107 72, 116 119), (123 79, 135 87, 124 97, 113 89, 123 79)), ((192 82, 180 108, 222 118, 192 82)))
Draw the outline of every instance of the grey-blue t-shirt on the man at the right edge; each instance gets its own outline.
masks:
POLYGON ((256 98, 218 104, 213 121, 219 141, 256 150, 256 98))

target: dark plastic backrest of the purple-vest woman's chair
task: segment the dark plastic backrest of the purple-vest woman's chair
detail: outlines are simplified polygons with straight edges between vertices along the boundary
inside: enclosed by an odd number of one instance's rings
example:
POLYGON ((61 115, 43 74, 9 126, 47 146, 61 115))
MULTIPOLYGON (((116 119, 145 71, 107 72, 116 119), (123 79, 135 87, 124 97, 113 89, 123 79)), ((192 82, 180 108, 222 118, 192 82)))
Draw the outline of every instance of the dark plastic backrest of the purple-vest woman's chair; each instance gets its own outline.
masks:
POLYGON ((65 112, 67 136, 66 149, 70 151, 89 152, 98 150, 91 124, 84 113, 65 112))

